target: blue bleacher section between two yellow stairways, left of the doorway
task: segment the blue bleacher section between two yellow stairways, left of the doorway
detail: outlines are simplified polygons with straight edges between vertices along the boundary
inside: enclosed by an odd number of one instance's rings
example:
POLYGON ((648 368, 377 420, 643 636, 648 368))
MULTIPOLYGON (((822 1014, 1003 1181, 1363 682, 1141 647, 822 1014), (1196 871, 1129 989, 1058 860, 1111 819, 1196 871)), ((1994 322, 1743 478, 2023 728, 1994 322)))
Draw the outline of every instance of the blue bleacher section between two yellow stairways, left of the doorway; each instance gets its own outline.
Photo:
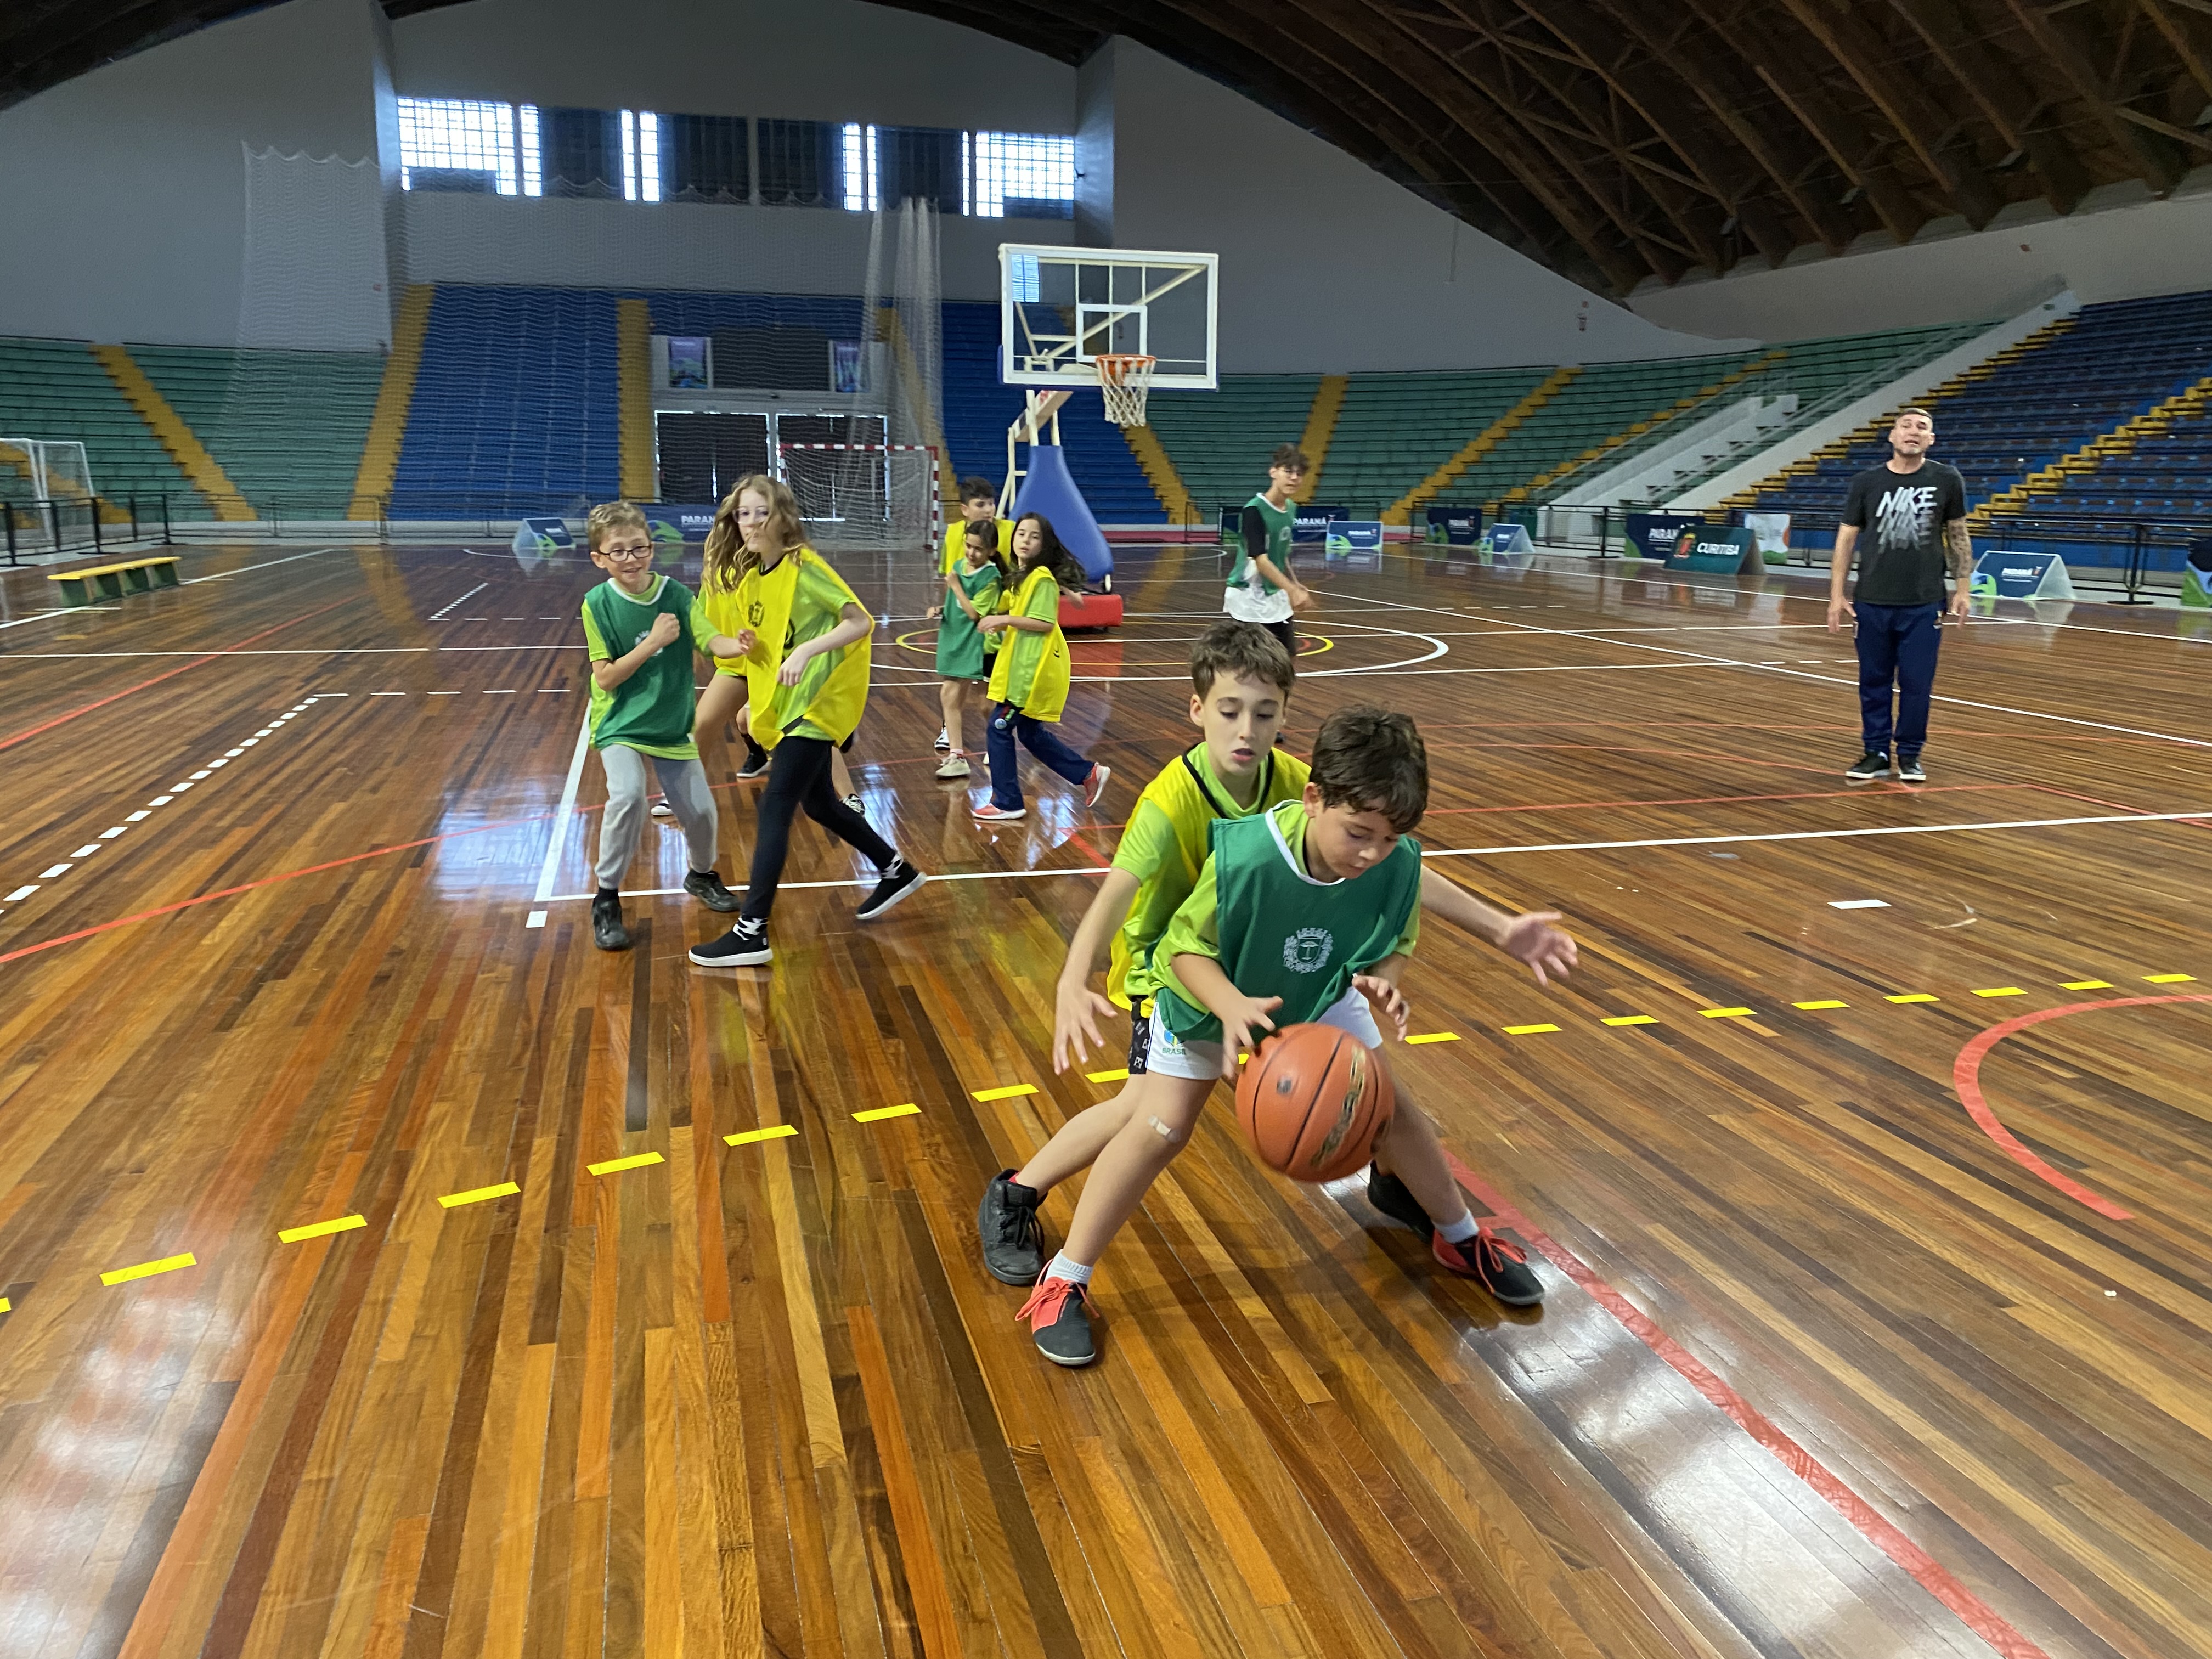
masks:
POLYGON ((394 518, 557 513, 619 489, 615 301, 440 285, 392 480, 394 518))

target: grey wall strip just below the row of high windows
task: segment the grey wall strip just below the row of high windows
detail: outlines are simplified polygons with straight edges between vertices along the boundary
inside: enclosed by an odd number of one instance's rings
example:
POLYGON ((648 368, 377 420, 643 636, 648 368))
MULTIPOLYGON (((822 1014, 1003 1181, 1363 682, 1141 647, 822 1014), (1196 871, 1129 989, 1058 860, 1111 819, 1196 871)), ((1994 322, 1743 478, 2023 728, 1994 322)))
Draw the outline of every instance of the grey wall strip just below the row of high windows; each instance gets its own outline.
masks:
MULTIPOLYGON (((860 294, 872 215, 697 201, 573 201, 416 190, 400 197, 407 281, 860 294)), ((998 299, 998 243, 1066 243, 1064 219, 938 221, 945 299, 998 299)), ((896 239, 883 250, 891 281, 896 239)))

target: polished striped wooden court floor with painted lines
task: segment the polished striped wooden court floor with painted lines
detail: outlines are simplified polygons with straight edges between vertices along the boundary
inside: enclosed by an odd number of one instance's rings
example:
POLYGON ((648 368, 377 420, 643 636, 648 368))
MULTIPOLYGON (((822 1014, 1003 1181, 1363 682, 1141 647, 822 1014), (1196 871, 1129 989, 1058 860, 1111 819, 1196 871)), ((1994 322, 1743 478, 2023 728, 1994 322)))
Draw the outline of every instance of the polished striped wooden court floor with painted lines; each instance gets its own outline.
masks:
POLYGON ((1978 622, 1929 785, 1854 790, 1801 577, 1310 571, 1290 745, 1411 710, 1438 867, 1582 940, 1542 991, 1427 929, 1455 1040, 1394 1055, 1551 1294, 1221 1110, 1066 1374, 973 1201, 1113 1088, 1051 1075, 1051 982, 1212 551, 1124 555, 1068 717, 1113 787, 998 832, 856 564, 854 770, 956 880, 860 929, 805 827, 765 973, 690 969, 681 894, 591 949, 588 566, 186 575, 0 580, 7 1659, 2212 1655, 2201 617, 1978 622))

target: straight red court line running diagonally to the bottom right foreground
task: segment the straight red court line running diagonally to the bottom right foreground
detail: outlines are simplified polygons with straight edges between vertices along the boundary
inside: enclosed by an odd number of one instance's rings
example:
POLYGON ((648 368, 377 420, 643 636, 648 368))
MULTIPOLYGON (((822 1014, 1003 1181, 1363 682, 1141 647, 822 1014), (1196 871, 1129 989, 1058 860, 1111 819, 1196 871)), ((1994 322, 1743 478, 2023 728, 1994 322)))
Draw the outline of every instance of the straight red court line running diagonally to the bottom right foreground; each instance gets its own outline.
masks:
MULTIPOLYGON (((2059 1013, 2066 1011, 2062 1009, 2059 1013)), ((1498 1192, 1498 1188, 1469 1170, 1449 1150, 1444 1152, 1444 1159, 1451 1164, 1451 1172, 1458 1177, 1460 1186, 1482 1199, 1495 1212, 1498 1221, 1535 1245, 1544 1259, 1551 1261, 1551 1265, 1582 1285, 1590 1301, 1613 1314, 1639 1343, 1644 1343, 1644 1347, 1674 1367, 1674 1371, 1681 1374, 1690 1387, 1725 1411, 1739 1429, 1752 1436, 1752 1440, 1772 1451, 1792 1475, 1820 1493, 1820 1498, 1825 1498, 1838 1515, 1858 1528, 1860 1537, 1911 1573, 1920 1588, 1951 1608, 1951 1613, 1955 1613, 1969 1630, 1982 1637, 1982 1641, 2004 1655, 2004 1659, 2051 1659, 2042 1648, 2028 1641, 2028 1637, 2015 1630, 1993 1606, 1960 1584, 1942 1562, 1913 1544, 1913 1540, 1893 1526, 1878 1509, 1874 1509, 1874 1504, 1843 1484, 1843 1480, 1836 1478, 1818 1458, 1783 1433, 1772 1418, 1723 1383, 1710 1365, 1668 1336, 1657 1321, 1644 1314, 1621 1292, 1590 1272, 1590 1267, 1575 1252, 1531 1223, 1528 1217, 1524 1217, 1513 1203, 1506 1203, 1506 1197, 1498 1192)))

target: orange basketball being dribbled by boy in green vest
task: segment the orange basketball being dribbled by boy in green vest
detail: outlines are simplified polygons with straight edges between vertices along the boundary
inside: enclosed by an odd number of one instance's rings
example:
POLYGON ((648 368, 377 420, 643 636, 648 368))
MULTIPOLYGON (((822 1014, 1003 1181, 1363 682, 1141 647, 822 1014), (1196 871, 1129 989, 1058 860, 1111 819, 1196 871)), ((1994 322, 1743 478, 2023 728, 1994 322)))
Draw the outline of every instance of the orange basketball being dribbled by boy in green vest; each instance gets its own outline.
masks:
POLYGON ((1283 1026, 1237 1077, 1237 1121, 1261 1164, 1336 1181, 1374 1157, 1396 1091, 1383 1055, 1336 1026, 1283 1026))

